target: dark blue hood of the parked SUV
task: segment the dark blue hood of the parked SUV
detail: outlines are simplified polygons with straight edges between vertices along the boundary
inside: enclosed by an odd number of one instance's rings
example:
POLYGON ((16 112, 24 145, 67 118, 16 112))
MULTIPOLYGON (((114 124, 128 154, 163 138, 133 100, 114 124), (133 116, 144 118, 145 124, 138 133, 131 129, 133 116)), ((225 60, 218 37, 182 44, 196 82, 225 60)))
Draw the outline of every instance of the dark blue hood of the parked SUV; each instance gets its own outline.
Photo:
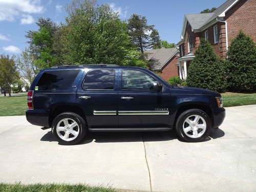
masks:
POLYGON ((192 87, 174 87, 171 89, 171 94, 188 94, 188 95, 214 95, 220 97, 221 94, 208 89, 192 88, 192 87))

